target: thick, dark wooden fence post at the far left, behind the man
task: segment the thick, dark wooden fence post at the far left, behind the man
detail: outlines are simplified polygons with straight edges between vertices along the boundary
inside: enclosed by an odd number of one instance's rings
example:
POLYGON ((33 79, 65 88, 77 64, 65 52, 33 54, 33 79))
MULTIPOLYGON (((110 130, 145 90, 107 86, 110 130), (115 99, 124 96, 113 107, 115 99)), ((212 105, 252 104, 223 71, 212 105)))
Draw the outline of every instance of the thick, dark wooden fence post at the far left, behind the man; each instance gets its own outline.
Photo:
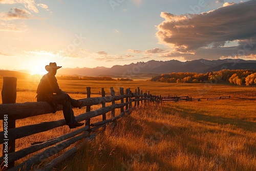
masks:
MULTIPOLYGON (((4 77, 3 78, 3 89, 2 89, 2 102, 3 104, 16 103, 17 96, 17 78, 15 77, 4 77)), ((8 130, 15 128, 15 119, 8 119, 8 115, 3 118, 3 130, 4 133, 4 144, 3 144, 3 156, 8 153, 15 152, 15 138, 8 138, 8 130)), ((1 163, 2 164, 2 163, 1 163)), ((6 164, 6 163, 3 163, 6 164)), ((14 167, 14 162, 8 163, 8 168, 14 167)))

